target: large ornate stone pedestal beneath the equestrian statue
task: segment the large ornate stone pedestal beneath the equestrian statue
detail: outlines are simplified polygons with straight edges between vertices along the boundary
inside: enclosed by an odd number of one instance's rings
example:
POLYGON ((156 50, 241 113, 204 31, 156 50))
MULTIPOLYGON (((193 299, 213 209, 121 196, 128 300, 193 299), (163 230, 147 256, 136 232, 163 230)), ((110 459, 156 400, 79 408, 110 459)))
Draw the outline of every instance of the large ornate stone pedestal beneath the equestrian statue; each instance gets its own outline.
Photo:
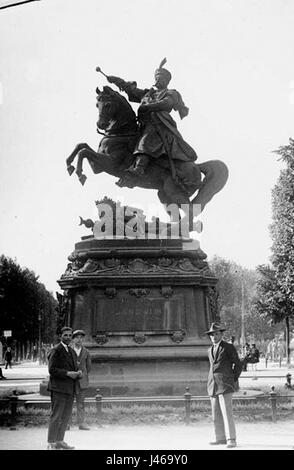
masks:
POLYGON ((60 324, 86 332, 89 395, 206 394, 217 279, 205 259, 192 239, 76 243, 58 281, 60 324))

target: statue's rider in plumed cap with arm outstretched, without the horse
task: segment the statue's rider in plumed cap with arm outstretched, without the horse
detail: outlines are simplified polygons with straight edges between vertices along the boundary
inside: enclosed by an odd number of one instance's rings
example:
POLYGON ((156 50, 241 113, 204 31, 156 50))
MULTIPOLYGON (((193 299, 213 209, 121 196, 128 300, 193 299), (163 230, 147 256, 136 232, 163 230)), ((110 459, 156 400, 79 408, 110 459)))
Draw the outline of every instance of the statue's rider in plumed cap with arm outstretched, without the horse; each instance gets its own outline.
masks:
POLYGON ((163 68, 164 59, 155 71, 155 88, 140 89, 136 82, 126 82, 119 77, 107 76, 110 83, 114 83, 121 91, 127 93, 130 101, 141 103, 138 108, 139 139, 136 144, 134 163, 127 169, 129 174, 142 176, 147 168, 150 158, 157 159, 157 163, 171 170, 176 177, 175 161, 192 162, 197 159, 195 151, 187 144, 179 131, 176 122, 170 115, 172 110, 178 111, 181 119, 187 116, 189 109, 185 106, 182 97, 176 90, 169 90, 167 85, 171 80, 171 73, 163 68), (168 156, 161 159, 162 156, 168 156))

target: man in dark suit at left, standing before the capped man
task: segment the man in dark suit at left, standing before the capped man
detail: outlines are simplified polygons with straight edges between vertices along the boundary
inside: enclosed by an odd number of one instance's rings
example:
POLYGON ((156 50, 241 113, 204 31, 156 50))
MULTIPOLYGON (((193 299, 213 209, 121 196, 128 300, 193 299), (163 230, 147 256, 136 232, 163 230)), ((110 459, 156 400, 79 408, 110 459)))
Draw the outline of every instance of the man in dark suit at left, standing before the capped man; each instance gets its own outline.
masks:
POLYGON ((72 329, 65 326, 61 329, 60 343, 49 353, 49 383, 51 392, 51 415, 48 429, 48 450, 74 447, 64 442, 64 434, 71 418, 76 380, 82 376, 77 367, 77 357, 69 346, 72 329))

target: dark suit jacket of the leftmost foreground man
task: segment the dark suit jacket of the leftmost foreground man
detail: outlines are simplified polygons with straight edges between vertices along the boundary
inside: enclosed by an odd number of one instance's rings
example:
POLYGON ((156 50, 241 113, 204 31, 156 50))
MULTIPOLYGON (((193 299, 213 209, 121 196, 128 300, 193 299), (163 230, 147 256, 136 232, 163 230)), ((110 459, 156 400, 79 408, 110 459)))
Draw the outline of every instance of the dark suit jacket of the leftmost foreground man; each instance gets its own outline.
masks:
POLYGON ((69 346, 68 352, 65 347, 59 343, 54 346, 49 353, 49 383, 50 392, 59 392, 73 395, 75 392, 76 380, 67 377, 69 371, 77 371, 77 356, 74 350, 69 346))

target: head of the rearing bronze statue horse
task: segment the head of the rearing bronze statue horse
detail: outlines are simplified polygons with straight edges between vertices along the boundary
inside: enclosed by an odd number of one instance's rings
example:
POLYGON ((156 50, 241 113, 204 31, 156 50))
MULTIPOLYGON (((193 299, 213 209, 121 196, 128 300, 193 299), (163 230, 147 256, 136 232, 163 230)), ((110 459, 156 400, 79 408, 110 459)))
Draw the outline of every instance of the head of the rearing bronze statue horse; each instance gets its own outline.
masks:
POLYGON ((103 91, 96 88, 97 108, 99 119, 97 126, 100 129, 119 129, 128 122, 134 122, 136 115, 128 101, 117 91, 109 86, 104 86, 103 91))

